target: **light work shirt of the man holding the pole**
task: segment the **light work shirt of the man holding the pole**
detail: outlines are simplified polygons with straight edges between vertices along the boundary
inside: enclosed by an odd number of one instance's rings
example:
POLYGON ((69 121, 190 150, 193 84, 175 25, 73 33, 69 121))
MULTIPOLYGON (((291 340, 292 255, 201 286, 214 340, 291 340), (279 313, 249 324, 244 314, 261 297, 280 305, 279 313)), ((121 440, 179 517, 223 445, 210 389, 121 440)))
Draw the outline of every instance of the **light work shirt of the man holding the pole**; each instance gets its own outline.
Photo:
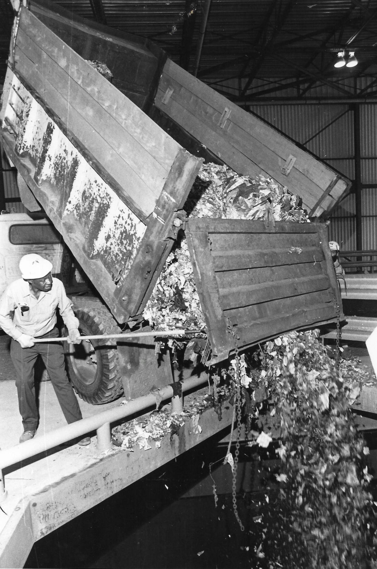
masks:
POLYGON ((21 334, 43 336, 54 328, 57 308, 68 330, 79 327, 79 320, 73 314, 72 302, 65 294, 62 281, 52 277, 51 290, 41 291, 37 299, 29 283, 18 279, 7 287, 0 299, 0 326, 14 340, 21 334))

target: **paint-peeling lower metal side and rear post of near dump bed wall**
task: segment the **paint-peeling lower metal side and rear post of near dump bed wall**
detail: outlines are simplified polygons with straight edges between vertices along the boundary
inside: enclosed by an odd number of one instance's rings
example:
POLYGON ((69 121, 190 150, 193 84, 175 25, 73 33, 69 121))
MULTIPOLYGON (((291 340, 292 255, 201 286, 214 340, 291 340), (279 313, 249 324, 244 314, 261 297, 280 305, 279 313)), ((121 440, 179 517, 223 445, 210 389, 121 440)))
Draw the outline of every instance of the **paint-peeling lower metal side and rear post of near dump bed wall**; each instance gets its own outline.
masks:
POLYGON ((175 211, 181 209, 201 160, 178 149, 146 220, 106 182, 10 69, 3 100, 1 134, 7 155, 114 318, 126 321, 147 302, 161 259, 169 255, 177 232, 175 211))

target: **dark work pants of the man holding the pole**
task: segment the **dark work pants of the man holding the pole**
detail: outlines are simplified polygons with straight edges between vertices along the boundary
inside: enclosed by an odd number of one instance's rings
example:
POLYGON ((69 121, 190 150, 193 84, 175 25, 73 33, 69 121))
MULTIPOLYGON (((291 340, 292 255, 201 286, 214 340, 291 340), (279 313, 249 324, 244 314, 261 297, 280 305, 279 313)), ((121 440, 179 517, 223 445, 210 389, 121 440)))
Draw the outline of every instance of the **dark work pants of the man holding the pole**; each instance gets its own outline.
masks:
MULTIPOLYGON (((54 328, 40 337, 56 338, 58 335, 58 329, 54 328)), ((63 346, 58 342, 46 342, 34 344, 32 348, 21 348, 17 341, 12 340, 10 356, 16 369, 18 405, 24 431, 34 431, 38 426, 34 389, 34 366, 38 354, 42 356, 67 423, 82 419, 79 403, 65 372, 63 346)))

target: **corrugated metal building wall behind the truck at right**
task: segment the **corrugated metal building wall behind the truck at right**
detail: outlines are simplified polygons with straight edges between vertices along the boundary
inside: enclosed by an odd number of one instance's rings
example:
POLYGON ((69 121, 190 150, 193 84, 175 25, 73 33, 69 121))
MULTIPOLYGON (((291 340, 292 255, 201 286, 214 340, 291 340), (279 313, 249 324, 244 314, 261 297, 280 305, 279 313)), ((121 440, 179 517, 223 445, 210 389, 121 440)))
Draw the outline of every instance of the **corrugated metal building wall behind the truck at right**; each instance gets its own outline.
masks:
MULTIPOLYGON (((323 93, 321 93, 323 96, 323 93)), ((251 111, 304 145, 351 180, 355 178, 354 110, 345 104, 252 105, 251 111)), ((377 104, 360 104, 363 249, 377 249, 377 104), (374 187, 375 186, 375 187, 374 187)), ((356 249, 355 196, 333 212, 329 238, 356 249)))

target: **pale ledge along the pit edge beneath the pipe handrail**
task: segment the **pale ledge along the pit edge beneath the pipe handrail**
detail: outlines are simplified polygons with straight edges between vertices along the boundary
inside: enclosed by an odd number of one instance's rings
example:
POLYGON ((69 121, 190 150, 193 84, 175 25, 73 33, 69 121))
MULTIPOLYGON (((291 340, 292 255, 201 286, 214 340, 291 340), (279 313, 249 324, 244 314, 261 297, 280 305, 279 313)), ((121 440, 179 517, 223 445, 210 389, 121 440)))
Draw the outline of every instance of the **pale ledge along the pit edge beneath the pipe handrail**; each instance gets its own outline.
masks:
POLYGON ((7 519, 0 531, 0 567, 22 567, 34 541, 222 431, 232 417, 232 406, 224 402, 222 420, 212 408, 203 411, 198 423, 187 418, 178 434, 162 439, 160 448, 153 444, 147 451, 130 452, 114 447, 106 454, 90 447, 67 449, 10 473, 10 479, 16 474, 17 479, 12 487, 5 477, 9 497, 2 502, 7 519), (42 475, 47 470, 48 485, 42 475))

